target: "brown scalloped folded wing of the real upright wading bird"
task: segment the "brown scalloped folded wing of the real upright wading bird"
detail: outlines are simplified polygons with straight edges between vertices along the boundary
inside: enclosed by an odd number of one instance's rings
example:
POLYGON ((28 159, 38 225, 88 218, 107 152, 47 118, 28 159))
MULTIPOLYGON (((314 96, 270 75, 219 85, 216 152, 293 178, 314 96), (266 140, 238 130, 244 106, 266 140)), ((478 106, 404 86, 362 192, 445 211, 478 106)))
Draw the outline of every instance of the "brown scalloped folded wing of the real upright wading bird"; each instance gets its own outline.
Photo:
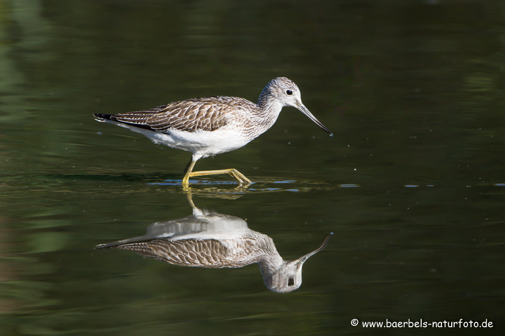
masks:
POLYGON ((188 132, 213 131, 226 125, 230 113, 244 104, 255 105, 236 97, 204 97, 174 102, 145 111, 113 115, 95 114, 95 117, 161 132, 170 129, 188 132))

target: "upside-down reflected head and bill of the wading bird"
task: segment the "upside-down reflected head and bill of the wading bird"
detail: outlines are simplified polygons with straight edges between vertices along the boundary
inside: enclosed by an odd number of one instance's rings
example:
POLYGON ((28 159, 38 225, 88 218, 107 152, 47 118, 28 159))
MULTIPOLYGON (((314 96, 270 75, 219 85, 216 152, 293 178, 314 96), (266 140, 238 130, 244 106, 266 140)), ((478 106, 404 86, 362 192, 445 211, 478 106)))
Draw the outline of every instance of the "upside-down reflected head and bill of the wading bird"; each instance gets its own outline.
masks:
POLYGON ((266 267, 260 267, 265 286, 275 293, 289 293, 298 289, 301 285, 301 266, 304 265, 304 262, 308 258, 325 248, 332 235, 333 233, 330 233, 326 236, 318 249, 296 260, 283 261, 282 265, 276 270, 268 270, 266 267))

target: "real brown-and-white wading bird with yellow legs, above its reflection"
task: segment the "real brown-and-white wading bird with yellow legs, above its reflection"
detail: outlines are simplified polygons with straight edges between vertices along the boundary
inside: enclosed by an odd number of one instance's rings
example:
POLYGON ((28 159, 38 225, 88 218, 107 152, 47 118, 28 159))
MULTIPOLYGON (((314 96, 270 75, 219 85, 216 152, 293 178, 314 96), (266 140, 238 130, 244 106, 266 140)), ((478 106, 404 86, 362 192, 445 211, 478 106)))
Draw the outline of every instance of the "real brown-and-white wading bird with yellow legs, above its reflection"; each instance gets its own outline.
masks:
POLYGON ((251 181, 233 168, 192 170, 200 158, 233 151, 257 138, 274 124, 283 106, 296 107, 332 135, 301 103, 296 84, 284 77, 267 84, 258 104, 237 97, 204 97, 139 112, 93 115, 98 121, 142 133, 155 143, 192 152, 183 186, 188 186, 190 177, 214 174, 230 174, 241 185, 248 185, 251 181))

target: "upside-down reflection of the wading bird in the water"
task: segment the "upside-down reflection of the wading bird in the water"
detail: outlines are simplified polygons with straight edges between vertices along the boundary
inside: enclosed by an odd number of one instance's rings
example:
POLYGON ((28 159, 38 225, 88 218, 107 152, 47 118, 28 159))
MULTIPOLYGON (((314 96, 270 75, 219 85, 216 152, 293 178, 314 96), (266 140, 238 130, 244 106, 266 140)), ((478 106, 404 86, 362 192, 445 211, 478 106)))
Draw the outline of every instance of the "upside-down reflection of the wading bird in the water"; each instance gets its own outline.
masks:
POLYGON ((257 262, 265 286, 273 292, 294 291, 301 284, 301 266, 326 247, 321 246, 296 260, 283 260, 269 236, 252 231, 234 216, 193 208, 193 216, 151 224, 142 237, 101 244, 96 249, 119 248, 175 265, 223 268, 257 262))

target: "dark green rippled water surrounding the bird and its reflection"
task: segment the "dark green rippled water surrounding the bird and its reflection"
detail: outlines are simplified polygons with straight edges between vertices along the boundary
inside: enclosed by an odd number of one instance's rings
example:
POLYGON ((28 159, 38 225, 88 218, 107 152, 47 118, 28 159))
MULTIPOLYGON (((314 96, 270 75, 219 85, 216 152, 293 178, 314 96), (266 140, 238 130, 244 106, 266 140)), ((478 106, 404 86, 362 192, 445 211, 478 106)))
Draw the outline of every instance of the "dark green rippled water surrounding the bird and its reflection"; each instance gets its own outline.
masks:
POLYGON ((0 334, 503 334, 505 4, 491 1, 0 2, 0 334), (95 245, 191 215, 189 153, 91 113, 200 96, 293 108, 196 169, 199 208, 304 266, 181 267, 95 245), (359 325, 352 326, 351 320, 359 325), (491 321, 365 328, 378 321, 491 321))

